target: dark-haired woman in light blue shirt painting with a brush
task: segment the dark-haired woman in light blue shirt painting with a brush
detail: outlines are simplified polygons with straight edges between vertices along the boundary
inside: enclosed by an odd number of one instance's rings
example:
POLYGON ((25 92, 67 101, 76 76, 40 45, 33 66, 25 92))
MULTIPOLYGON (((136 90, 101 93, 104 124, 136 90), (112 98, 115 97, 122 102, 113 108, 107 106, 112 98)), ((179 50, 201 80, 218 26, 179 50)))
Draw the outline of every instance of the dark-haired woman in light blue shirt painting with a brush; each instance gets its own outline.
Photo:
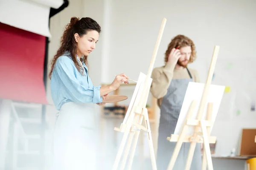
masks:
POLYGON ((89 18, 72 17, 61 37, 49 72, 51 95, 59 110, 54 134, 55 170, 96 169, 96 131, 92 104, 120 84, 128 83, 125 74, 115 77, 107 87, 94 86, 88 76, 87 57, 95 49, 101 27, 89 18))

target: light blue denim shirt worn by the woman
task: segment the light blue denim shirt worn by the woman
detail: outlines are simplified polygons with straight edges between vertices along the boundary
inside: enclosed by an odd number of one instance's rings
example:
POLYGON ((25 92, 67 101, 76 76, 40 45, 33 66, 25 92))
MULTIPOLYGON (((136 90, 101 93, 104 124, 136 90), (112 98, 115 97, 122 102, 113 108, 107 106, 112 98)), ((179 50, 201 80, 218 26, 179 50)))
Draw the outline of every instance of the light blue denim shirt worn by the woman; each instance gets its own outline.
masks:
MULTIPOLYGON (((80 65, 79 57, 77 62, 80 65)), ((59 111, 61 106, 67 102, 78 103, 101 103, 100 85, 93 86, 88 76, 88 68, 82 62, 84 72, 81 74, 70 55, 66 51, 56 60, 51 78, 51 95, 55 108, 59 111)))

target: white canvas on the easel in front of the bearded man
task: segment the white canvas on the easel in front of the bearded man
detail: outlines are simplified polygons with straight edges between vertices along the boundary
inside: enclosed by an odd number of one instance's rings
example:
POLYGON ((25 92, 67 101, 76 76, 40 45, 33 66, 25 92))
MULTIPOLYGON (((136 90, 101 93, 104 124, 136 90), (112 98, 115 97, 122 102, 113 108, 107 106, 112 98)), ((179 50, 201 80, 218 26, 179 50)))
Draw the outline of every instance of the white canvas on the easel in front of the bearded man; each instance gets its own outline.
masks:
MULTIPOLYGON (((192 114, 192 119, 196 119, 197 118, 197 114, 198 114, 198 108, 201 102, 201 97, 204 91, 204 83, 198 83, 198 82, 189 82, 188 88, 186 90, 186 94, 183 100, 183 104, 180 110, 180 115, 177 121, 177 125, 175 127, 175 132, 174 134, 180 134, 182 127, 184 125, 184 121, 186 119, 186 115, 187 112, 189 110, 189 107, 191 105, 191 102, 193 100, 197 100, 196 106, 195 106, 195 110, 192 114)), ((204 113, 203 113, 203 117, 202 119, 206 119, 207 116, 207 104, 208 102, 212 102, 213 106, 212 106, 212 121, 215 121, 215 118, 217 116, 218 113, 218 109, 219 106, 221 104, 221 99, 222 96, 224 94, 224 89, 225 86, 223 85, 210 85, 209 88, 209 94, 207 97, 207 102, 206 102, 206 106, 204 108, 204 113)), ((194 133, 194 129, 195 126, 189 126, 187 134, 186 135, 193 135, 194 133)), ((212 131, 212 128, 211 128, 212 131)))

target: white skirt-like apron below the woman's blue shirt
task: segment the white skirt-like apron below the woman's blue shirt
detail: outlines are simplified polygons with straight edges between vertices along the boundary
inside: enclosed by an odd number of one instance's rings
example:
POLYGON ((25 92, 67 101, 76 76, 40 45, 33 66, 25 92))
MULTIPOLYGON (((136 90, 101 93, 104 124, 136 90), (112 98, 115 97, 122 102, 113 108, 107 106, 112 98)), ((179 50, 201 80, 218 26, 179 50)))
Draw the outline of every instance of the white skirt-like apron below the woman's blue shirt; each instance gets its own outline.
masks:
POLYGON ((53 139, 54 170, 96 169, 96 125, 91 104, 62 105, 53 139))

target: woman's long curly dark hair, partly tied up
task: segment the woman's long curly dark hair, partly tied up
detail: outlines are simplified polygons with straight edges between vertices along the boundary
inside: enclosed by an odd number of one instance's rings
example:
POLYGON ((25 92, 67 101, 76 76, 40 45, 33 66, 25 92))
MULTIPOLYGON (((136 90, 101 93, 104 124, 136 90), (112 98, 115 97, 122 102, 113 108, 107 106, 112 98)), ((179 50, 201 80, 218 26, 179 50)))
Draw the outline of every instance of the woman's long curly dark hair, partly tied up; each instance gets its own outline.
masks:
MULTIPOLYGON (((76 59, 76 48, 77 48, 77 42, 75 40, 74 34, 79 34, 80 37, 82 37, 84 34, 87 34, 87 31, 97 31, 100 33, 101 27, 99 24, 89 18, 84 17, 79 20, 77 17, 72 17, 70 20, 70 23, 68 23, 65 26, 65 31, 63 32, 63 35, 61 37, 61 45, 58 49, 57 53, 53 57, 51 61, 51 70, 49 72, 49 78, 52 77, 52 70, 54 68, 54 65, 58 59, 58 57, 61 57, 61 55, 64 54, 65 51, 69 51, 72 57, 73 62, 75 63, 75 66, 77 70, 82 74, 84 69, 79 65, 76 59)), ((80 59, 87 65, 87 56, 81 57, 80 59)))

